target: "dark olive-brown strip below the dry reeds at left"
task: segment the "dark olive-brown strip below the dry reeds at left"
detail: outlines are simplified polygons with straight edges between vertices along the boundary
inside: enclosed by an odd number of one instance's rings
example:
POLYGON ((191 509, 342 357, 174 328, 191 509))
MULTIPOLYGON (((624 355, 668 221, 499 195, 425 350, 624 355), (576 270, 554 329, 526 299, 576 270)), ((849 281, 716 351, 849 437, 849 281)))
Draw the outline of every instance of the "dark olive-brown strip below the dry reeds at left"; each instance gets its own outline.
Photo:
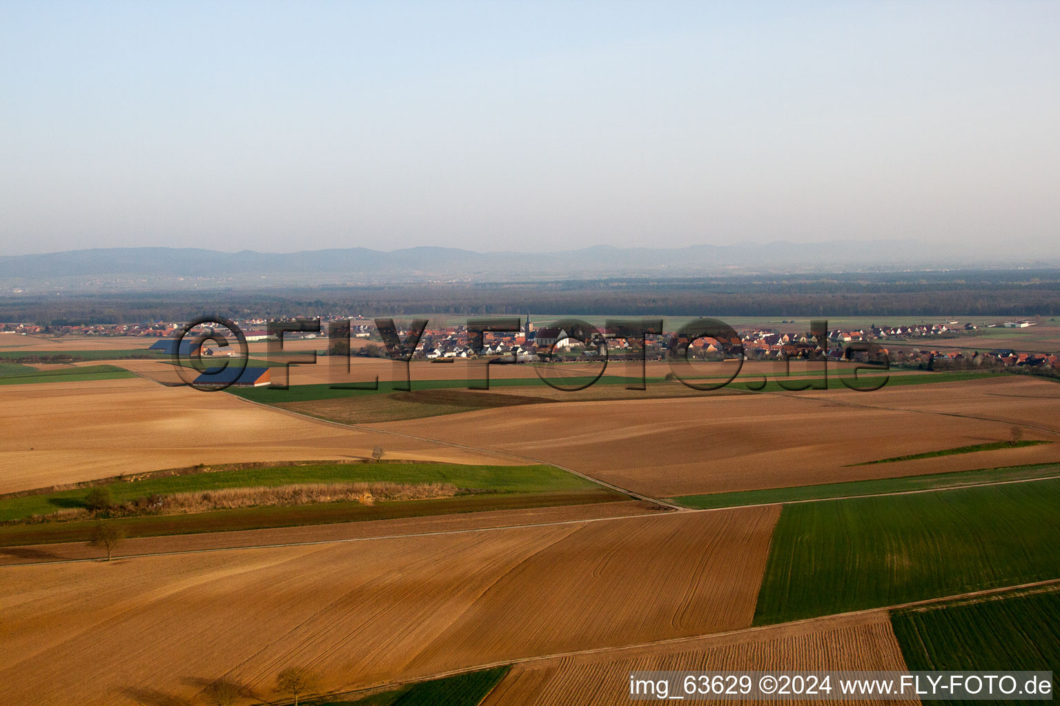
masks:
MULTIPOLYGON (((629 500, 629 497, 622 493, 599 488, 529 493, 483 493, 432 500, 388 501, 374 505, 322 503, 282 507, 248 507, 193 514, 120 518, 107 520, 107 522, 121 527, 126 537, 159 537, 162 535, 196 535, 240 529, 326 525, 337 522, 393 520, 485 510, 588 505, 624 500, 629 500)), ((7 525, 0 527, 0 546, 87 542, 94 526, 95 522, 93 521, 7 525)))

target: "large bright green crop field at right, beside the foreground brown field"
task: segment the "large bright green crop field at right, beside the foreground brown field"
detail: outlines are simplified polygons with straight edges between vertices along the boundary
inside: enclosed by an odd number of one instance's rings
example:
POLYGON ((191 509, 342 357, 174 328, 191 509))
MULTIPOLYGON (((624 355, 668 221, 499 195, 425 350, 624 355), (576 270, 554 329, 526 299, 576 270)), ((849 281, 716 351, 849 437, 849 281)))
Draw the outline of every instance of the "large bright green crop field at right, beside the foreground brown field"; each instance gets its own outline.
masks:
POLYGON ((1060 479, 785 505, 755 623, 1060 578, 1060 479))

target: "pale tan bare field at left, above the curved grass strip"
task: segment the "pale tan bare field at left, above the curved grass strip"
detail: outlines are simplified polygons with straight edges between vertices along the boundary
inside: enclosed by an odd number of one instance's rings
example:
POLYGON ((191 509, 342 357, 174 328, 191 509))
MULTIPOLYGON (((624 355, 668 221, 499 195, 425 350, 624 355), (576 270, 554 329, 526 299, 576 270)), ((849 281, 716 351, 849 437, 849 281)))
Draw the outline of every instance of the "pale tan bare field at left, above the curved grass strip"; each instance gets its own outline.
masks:
POLYGON ((367 458, 376 445, 388 458, 510 463, 143 379, 12 385, 0 395, 0 492, 195 464, 367 458))

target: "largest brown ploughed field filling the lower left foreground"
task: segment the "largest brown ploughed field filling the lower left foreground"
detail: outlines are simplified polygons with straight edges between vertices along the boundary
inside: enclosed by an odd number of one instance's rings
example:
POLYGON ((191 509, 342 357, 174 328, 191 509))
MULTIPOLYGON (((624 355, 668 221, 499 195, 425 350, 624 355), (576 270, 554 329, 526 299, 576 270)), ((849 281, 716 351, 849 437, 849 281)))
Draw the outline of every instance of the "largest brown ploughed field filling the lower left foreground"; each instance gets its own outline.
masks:
POLYGON ((750 620, 776 515, 7 566, 0 680, 28 705, 183 703, 222 676, 261 698, 293 664, 321 672, 324 689, 349 690, 738 629, 750 620))

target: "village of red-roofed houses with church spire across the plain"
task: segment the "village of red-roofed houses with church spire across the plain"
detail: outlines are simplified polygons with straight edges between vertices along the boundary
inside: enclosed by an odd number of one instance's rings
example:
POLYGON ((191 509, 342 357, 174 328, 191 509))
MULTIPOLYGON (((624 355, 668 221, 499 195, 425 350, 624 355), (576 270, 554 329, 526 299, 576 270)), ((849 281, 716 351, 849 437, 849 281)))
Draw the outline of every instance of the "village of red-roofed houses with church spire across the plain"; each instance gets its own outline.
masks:
MULTIPOLYGON (((497 357, 505 362, 538 363, 569 360, 624 358, 646 358, 662 360, 676 351, 690 359, 730 359, 743 356, 745 360, 783 361, 792 358, 864 359, 865 344, 871 343, 873 350, 887 357, 896 367, 920 369, 968 369, 1026 368, 1021 372, 1056 374, 1060 370, 1060 351, 1021 351, 1013 347, 970 349, 969 342, 982 329, 1022 329, 1037 325, 1023 319, 997 321, 991 324, 973 324, 957 320, 947 320, 932 324, 908 324, 860 328, 830 328, 827 336, 817 337, 811 331, 781 332, 782 327, 742 327, 737 329, 742 352, 732 342, 719 342, 710 338, 689 341, 679 331, 667 330, 661 336, 647 337, 641 342, 615 336, 607 326, 589 327, 584 333, 586 341, 567 331, 562 326, 538 325, 529 315, 520 319, 518 330, 487 331, 481 339, 481 347, 475 349, 466 325, 430 326, 422 331, 408 328, 396 329, 400 340, 406 345, 388 345, 379 336, 375 322, 365 316, 348 318, 335 314, 321 322, 318 332, 285 332, 284 340, 322 339, 321 355, 335 352, 328 339, 329 325, 349 322, 350 338, 359 339, 364 344, 351 349, 351 355, 366 357, 398 357, 403 359, 450 362, 457 359, 476 357, 497 357), (419 333, 419 336, 418 336, 419 333), (824 340, 820 340, 820 339, 824 340), (328 341, 325 343, 325 341, 328 341), (409 346, 407 344, 414 344, 409 346), (644 350, 641 350, 641 343, 644 350), (411 349, 410 349, 411 348, 411 349), (858 352, 852 352, 852 351, 858 352)), ((269 321, 254 318, 234 322, 248 342, 275 341, 269 333, 269 321)), ((545 324, 558 322, 548 321, 545 324)), ((787 323, 787 322, 785 322, 787 323)), ((130 324, 94 324, 42 326, 34 323, 0 323, 0 333, 28 336, 74 337, 140 337, 148 340, 164 340, 178 336, 182 324, 178 322, 141 322, 130 324)), ((157 350, 167 350, 165 346, 154 346, 157 350)), ((205 346, 202 354, 240 355, 232 347, 217 348, 205 346)), ((679 355, 679 354, 677 354, 679 355)))

